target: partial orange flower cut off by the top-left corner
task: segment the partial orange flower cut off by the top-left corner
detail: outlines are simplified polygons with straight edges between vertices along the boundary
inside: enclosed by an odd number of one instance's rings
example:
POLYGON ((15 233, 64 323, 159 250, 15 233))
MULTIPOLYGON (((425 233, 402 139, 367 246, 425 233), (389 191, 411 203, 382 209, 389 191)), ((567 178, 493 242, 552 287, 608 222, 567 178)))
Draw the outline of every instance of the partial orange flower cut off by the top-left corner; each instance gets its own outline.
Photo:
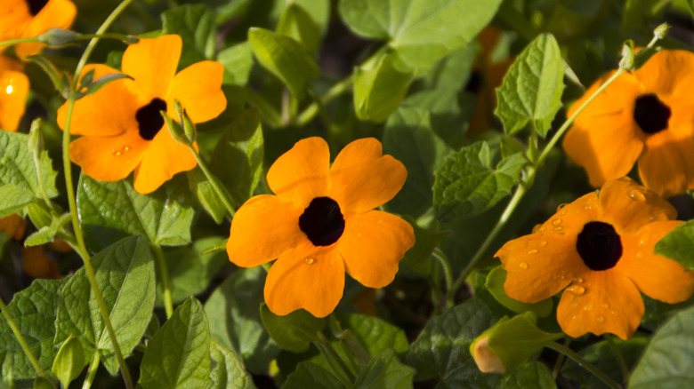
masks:
MULTIPOLYGON (((69 0, 2 0, 0 41, 40 36, 50 28, 69 28, 77 8, 69 0)), ((3 52, 6 46, 0 47, 3 52)), ((20 58, 38 54, 44 44, 16 44, 20 58)))

